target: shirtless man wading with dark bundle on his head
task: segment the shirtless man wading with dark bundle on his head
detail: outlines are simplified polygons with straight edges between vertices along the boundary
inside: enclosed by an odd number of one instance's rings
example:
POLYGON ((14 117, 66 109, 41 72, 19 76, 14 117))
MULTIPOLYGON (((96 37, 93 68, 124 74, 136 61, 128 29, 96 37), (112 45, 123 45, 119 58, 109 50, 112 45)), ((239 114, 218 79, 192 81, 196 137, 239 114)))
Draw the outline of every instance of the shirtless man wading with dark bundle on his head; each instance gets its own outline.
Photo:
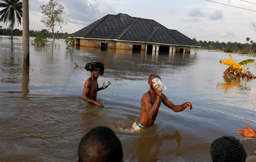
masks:
POLYGON ((93 62, 85 65, 85 69, 87 71, 90 71, 91 76, 84 83, 84 89, 82 94, 82 98, 84 101, 87 101, 91 104, 96 104, 99 107, 104 107, 104 105, 96 101, 98 91, 104 90, 105 88, 108 87, 108 85, 111 84, 109 81, 105 81, 102 87, 99 88, 97 79, 99 78, 99 75, 104 74, 103 65, 104 64, 100 62, 93 62))

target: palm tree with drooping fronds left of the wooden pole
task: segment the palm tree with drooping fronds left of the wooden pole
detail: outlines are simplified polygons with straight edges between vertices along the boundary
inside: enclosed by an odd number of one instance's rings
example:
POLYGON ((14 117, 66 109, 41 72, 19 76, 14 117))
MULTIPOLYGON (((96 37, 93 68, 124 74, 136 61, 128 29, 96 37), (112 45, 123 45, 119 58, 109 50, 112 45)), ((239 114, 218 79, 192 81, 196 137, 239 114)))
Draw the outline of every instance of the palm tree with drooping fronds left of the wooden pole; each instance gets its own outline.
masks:
POLYGON ((20 0, 1 0, 0 8, 4 8, 0 11, 0 22, 10 23, 11 26, 11 38, 13 26, 15 26, 15 20, 17 18, 18 25, 21 25, 22 19, 22 2, 20 0))

